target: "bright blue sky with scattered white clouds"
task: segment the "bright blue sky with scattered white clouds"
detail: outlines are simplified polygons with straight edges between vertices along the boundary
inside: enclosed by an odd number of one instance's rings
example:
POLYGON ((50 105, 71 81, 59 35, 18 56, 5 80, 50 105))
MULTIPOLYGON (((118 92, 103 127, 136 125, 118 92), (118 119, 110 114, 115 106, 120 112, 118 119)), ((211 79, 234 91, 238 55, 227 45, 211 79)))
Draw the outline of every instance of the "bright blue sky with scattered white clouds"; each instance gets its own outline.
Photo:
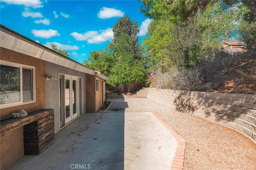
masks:
POLYGON ((138 22, 143 38, 151 20, 140 6, 137 0, 0 0, 0 23, 47 47, 54 43, 82 63, 112 42, 112 28, 124 15, 138 22))

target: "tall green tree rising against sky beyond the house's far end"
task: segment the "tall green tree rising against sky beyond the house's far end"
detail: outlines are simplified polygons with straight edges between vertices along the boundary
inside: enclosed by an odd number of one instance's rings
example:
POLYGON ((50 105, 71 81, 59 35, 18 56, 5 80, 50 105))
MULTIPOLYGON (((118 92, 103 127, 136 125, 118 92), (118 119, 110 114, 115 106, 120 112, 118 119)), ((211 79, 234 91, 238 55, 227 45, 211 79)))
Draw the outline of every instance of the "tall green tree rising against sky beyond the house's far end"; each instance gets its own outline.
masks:
MULTIPOLYGON (((145 80, 145 60, 142 47, 136 35, 139 33, 138 23, 128 16, 120 18, 113 28, 114 40, 108 45, 116 59, 110 74, 110 84, 129 85, 130 82, 145 80)), ((130 87, 128 86, 128 91, 130 87)))

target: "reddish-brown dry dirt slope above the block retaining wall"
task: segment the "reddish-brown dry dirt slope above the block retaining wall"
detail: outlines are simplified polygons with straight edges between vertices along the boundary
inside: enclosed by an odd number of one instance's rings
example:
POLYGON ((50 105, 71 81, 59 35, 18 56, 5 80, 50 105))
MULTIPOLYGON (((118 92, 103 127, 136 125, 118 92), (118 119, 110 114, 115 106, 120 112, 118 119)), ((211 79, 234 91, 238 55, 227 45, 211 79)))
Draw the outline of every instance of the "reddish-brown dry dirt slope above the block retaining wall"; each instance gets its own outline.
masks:
POLYGON ((211 81, 218 83, 212 92, 256 95, 256 50, 232 57, 227 62, 225 71, 212 76, 211 81))

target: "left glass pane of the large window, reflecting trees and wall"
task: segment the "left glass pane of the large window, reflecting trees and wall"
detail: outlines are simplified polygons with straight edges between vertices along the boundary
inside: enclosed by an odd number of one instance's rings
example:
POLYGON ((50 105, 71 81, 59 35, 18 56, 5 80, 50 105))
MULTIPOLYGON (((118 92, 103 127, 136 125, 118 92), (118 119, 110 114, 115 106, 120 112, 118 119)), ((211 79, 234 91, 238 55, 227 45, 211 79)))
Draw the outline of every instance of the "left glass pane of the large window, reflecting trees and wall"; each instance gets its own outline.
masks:
POLYGON ((20 101, 20 68, 0 65, 0 104, 20 101))

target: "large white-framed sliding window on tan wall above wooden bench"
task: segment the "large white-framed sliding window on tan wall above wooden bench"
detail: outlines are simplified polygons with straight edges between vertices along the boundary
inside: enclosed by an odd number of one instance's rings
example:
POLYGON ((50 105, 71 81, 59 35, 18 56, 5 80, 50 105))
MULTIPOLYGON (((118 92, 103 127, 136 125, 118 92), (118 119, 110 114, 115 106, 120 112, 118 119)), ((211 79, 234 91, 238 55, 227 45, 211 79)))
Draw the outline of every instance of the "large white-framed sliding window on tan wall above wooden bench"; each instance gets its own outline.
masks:
POLYGON ((35 67, 0 61, 0 107, 35 101, 35 67))

